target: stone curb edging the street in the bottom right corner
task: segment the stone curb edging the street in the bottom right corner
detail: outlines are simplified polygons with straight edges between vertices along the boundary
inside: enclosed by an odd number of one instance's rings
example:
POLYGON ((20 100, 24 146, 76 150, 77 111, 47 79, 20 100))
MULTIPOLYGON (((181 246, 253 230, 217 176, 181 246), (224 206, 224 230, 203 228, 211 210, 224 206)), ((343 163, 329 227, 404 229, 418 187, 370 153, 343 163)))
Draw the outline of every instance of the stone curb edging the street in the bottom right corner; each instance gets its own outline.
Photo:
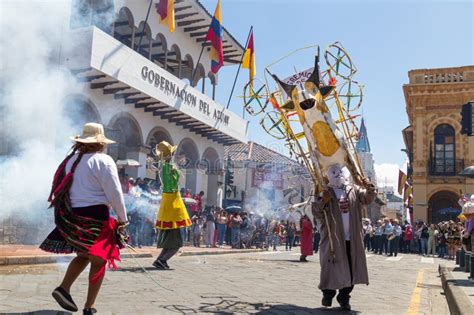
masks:
POLYGON ((441 285, 443 286, 451 314, 473 314, 474 310, 471 301, 464 291, 456 285, 456 279, 451 275, 451 269, 445 265, 439 265, 438 272, 441 276, 441 285))

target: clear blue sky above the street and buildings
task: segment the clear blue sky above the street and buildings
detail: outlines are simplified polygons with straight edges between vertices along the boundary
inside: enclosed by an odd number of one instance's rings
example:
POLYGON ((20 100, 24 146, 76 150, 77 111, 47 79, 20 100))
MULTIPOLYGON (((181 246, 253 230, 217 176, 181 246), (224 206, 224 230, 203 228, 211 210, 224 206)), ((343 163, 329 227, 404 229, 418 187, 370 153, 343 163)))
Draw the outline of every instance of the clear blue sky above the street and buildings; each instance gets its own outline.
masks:
MULTIPOLYGON (((201 2, 214 12, 216 0, 201 2)), ((379 184, 394 186, 406 160, 401 130, 408 126, 402 90, 408 71, 474 64, 474 1, 222 0, 221 7, 224 27, 242 45, 253 25, 258 79, 295 49, 343 44, 358 69, 354 79, 365 86, 362 112, 379 184)), ((313 54, 289 58, 277 74, 311 67, 313 54)), ((236 71, 229 66, 219 72, 221 104, 227 104, 236 71)), ((247 81, 242 69, 230 105, 239 114, 247 81)), ((258 121, 250 118, 249 140, 283 152, 283 143, 266 135, 258 121)))

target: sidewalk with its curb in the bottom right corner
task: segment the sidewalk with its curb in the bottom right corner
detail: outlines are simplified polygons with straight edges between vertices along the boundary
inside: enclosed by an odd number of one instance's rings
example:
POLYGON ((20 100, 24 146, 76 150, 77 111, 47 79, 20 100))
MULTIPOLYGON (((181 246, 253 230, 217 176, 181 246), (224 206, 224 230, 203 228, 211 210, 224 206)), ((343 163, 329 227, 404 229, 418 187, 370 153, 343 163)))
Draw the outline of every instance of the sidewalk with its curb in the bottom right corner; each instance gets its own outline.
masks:
POLYGON ((451 314, 474 314, 474 283, 467 279, 469 273, 439 265, 439 274, 451 314))

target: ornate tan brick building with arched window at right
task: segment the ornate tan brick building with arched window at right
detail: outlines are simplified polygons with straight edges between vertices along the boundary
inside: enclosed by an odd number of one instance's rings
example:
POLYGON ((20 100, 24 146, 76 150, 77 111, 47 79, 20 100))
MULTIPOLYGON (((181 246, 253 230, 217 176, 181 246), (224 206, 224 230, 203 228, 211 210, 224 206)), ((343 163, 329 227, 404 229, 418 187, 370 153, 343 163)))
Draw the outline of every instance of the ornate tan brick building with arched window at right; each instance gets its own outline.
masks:
POLYGON ((474 66, 408 72, 403 86, 410 125, 405 141, 413 183, 413 218, 438 222, 460 208, 460 192, 474 193, 474 179, 460 177, 474 165, 474 137, 461 135, 461 106, 474 100, 474 66))

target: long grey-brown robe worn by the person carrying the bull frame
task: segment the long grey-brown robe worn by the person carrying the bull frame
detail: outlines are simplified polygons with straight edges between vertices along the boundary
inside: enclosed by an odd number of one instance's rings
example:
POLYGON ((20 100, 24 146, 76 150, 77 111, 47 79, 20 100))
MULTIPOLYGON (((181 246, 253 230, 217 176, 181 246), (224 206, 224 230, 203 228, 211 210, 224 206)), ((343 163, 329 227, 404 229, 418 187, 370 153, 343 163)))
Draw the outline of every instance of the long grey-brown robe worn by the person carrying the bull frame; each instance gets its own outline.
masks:
POLYGON ((369 284, 367 262, 364 250, 364 232, 362 230, 362 211, 376 196, 375 187, 365 189, 357 185, 346 186, 349 201, 349 224, 351 242, 351 263, 353 278, 347 260, 346 242, 344 240, 344 227, 342 225, 341 211, 336 194, 331 189, 331 202, 327 209, 329 227, 334 244, 335 257, 331 256, 329 233, 323 214, 323 203, 319 198, 313 204, 313 214, 321 226, 321 242, 319 261, 321 264, 321 277, 319 289, 342 289, 354 284, 369 284))

